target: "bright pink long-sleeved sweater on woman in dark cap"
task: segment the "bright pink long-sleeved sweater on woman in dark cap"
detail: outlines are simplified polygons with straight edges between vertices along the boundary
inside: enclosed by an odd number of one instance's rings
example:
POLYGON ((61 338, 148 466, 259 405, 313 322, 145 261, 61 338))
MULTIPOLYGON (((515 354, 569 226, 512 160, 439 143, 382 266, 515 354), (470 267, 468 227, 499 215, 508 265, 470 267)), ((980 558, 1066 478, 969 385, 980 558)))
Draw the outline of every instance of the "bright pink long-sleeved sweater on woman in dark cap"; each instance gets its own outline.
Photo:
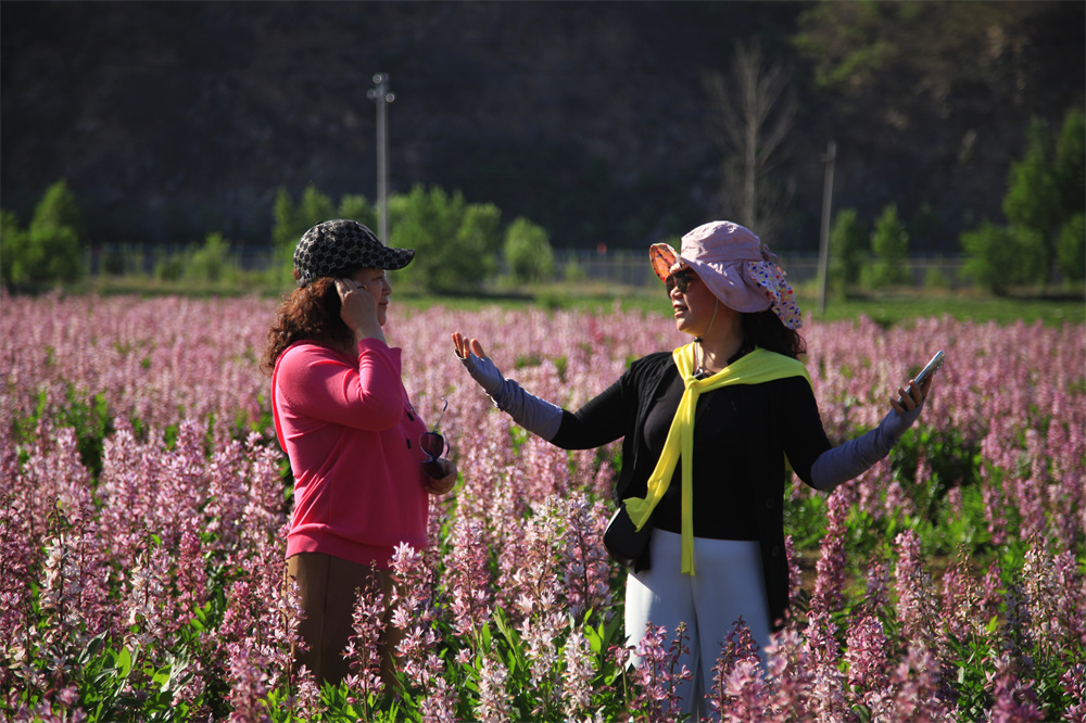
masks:
POLYGON ((388 568, 400 543, 427 544, 418 447, 426 426, 407 398, 400 358, 401 350, 363 340, 357 364, 312 342, 276 362, 275 428, 294 472, 287 557, 324 553, 388 568))

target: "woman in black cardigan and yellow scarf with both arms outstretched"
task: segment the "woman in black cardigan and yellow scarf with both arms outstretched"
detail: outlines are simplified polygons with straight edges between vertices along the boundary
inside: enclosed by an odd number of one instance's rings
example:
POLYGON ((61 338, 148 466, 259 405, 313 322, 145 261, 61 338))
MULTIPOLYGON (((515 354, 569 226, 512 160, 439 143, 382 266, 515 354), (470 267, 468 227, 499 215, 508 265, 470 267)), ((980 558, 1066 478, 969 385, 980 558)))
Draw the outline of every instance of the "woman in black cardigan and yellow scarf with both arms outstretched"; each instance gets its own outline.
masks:
POLYGON ((646 624, 690 634, 693 673, 679 693, 704 709, 720 644, 741 617, 759 646, 785 616, 785 465, 805 483, 832 490, 882 459, 919 417, 931 381, 910 382, 867 434, 833 447, 819 417, 799 308, 775 257, 748 229, 700 226, 681 253, 655 244, 649 257, 667 284, 675 327, 694 341, 634 362, 576 413, 505 379, 478 340, 453 334, 471 377, 514 421, 566 449, 623 437, 615 500, 649 547, 627 579, 630 645, 646 624))

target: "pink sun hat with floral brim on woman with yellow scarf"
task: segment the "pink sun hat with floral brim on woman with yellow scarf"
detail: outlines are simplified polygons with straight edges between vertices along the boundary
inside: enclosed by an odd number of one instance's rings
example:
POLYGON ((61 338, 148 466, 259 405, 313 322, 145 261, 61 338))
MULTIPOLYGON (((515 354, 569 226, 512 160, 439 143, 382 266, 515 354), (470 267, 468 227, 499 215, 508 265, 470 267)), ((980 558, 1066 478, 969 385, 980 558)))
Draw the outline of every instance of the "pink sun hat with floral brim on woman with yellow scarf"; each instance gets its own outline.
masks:
POLYGON ((773 313, 788 329, 803 326, 803 315, 776 256, 749 229, 731 221, 698 226, 682 237, 682 251, 667 243, 648 250, 660 281, 681 268, 693 269, 724 305, 736 312, 773 313))

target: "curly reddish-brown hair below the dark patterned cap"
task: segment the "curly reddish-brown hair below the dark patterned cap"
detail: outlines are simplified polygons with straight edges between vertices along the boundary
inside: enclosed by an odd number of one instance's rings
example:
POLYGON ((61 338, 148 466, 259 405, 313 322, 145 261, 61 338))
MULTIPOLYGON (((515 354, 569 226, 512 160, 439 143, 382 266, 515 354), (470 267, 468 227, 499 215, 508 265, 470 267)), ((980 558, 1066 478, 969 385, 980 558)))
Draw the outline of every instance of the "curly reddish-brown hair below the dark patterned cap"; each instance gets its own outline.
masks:
POLYGON ((261 371, 270 377, 279 355, 295 342, 310 340, 341 346, 350 344, 352 339, 350 327, 340 317, 336 280, 330 277, 316 279, 295 289, 279 304, 268 329, 261 371))

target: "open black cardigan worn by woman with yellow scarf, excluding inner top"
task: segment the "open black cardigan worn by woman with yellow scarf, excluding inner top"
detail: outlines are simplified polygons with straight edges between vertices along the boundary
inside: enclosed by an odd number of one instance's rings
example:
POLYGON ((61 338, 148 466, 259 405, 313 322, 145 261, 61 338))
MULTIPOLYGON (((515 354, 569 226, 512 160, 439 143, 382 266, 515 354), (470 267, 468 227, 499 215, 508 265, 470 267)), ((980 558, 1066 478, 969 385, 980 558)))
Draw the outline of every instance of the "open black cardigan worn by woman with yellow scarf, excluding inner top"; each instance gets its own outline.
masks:
MULTIPOLYGON (((675 382, 679 370, 670 352, 642 357, 607 390, 576 413, 565 411, 557 434, 551 440, 564 449, 588 449, 622 441, 622 466, 615 484, 616 504, 627 497, 644 497, 647 480, 656 466, 656 455, 644 441, 645 419, 656 401, 675 382)), ((822 428, 818 404, 810 385, 801 377, 791 377, 754 385, 725 386, 702 395, 697 419, 709 395, 719 414, 742 420, 733 424, 734 439, 721 440, 712 453, 721 456, 729 473, 759 485, 755 505, 758 543, 774 627, 783 622, 788 602, 788 563, 784 551, 785 455, 796 474, 810 484, 810 468, 831 447, 822 428)), ((696 423, 696 422, 695 422, 696 423)), ((696 455, 695 455, 696 458, 696 455)), ((696 483, 695 483, 696 484, 696 483)), ((695 499, 697 497, 695 496, 695 499)), ((646 553, 634 569, 651 565, 646 553)))

